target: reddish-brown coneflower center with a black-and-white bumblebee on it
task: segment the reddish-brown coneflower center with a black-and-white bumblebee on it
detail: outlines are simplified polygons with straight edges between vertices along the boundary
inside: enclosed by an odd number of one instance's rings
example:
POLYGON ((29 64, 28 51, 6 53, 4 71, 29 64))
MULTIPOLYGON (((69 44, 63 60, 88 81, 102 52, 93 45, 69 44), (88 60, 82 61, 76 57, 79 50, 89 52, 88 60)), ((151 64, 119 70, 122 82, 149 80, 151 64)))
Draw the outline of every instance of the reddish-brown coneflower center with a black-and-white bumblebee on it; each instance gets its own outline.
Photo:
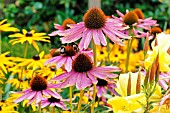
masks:
POLYGON ((60 53, 64 56, 74 56, 76 54, 76 50, 73 46, 61 46, 60 53))

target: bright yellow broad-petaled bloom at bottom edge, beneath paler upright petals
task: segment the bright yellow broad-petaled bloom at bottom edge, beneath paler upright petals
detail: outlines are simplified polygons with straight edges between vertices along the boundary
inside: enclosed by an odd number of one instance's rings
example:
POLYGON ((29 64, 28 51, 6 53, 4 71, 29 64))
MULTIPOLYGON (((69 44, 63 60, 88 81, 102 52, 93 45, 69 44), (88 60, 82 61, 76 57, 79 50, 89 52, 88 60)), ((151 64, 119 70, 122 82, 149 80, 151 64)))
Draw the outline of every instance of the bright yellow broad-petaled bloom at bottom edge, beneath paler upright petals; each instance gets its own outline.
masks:
MULTIPOLYGON (((115 96, 107 101, 113 108, 114 113, 132 113, 140 110, 146 104, 145 94, 139 93, 127 97, 115 96)), ((140 110, 142 111, 142 109, 140 110)))

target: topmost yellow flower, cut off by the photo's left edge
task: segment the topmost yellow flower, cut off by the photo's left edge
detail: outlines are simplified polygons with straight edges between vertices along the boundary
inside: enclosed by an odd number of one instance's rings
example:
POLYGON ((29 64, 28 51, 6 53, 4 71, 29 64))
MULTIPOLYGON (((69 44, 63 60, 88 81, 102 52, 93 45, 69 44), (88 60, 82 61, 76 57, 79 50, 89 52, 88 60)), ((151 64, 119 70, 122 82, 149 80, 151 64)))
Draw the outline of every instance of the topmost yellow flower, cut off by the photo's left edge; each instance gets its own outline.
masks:
POLYGON ((15 27, 10 27, 11 24, 6 23, 7 19, 4 19, 2 21, 0 21, 0 32, 4 31, 4 32, 8 32, 8 31, 19 31, 19 29, 15 28, 15 27))

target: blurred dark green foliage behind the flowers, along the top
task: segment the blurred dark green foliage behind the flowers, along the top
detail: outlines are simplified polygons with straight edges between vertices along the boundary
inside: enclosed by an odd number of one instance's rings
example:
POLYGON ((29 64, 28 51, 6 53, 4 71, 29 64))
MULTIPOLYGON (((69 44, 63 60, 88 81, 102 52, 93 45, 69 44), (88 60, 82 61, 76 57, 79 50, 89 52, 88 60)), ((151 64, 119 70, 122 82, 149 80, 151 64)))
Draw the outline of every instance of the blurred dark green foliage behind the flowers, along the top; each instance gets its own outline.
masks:
MULTIPOLYGON (((145 17, 157 20, 162 29, 170 27, 170 0, 101 0, 101 8, 106 15, 116 15, 116 10, 125 13, 126 9, 140 8, 145 17)), ((0 0, 0 20, 6 18, 20 30, 34 29, 49 34, 55 30, 54 23, 62 24, 66 18, 82 21, 87 9, 88 0, 0 0)), ((9 34, 2 33, 4 44, 8 42, 9 34)), ((59 38, 51 37, 51 45, 45 46, 46 53, 60 44, 59 38)), ((2 50, 10 50, 11 47, 2 50)))

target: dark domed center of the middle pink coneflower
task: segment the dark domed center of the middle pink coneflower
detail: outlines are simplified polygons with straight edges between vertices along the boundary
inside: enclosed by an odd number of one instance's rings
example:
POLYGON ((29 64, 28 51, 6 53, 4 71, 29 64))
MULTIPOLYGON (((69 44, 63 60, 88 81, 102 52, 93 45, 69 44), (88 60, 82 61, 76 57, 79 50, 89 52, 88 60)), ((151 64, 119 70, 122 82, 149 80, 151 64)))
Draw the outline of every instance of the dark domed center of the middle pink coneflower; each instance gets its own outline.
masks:
POLYGON ((73 69, 76 72, 87 72, 93 68, 93 62, 91 58, 82 53, 79 54, 73 61, 73 69))

